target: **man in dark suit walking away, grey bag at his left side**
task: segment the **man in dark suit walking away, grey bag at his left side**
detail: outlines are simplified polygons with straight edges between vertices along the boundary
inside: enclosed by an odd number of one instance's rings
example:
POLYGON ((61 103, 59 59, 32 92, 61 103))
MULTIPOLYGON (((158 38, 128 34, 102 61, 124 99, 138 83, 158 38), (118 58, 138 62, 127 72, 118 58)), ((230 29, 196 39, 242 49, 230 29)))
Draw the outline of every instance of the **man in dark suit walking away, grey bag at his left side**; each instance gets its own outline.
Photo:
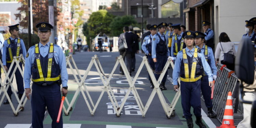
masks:
MULTIPOLYGON (((119 51, 120 55, 123 56, 123 59, 125 61, 125 57, 127 58, 126 60, 126 65, 127 65, 127 69, 131 75, 131 53, 132 53, 132 43, 133 43, 133 37, 132 34, 128 32, 129 31, 129 27, 125 26, 124 27, 124 33, 120 34, 119 38, 118 38, 118 47, 120 46, 120 44, 122 44, 122 42, 124 40, 126 40, 127 43, 127 47, 125 50, 119 51)), ((120 67, 120 74, 124 75, 124 71, 122 69, 122 67, 120 67)))

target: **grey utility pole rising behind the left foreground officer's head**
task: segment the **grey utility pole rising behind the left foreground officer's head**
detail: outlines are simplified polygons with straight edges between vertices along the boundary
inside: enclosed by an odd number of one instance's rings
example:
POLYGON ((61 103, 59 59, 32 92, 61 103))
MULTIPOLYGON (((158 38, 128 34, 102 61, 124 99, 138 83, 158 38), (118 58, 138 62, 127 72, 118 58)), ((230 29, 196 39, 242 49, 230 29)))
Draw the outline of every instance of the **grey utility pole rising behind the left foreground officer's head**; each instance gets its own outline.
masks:
MULTIPOLYGON (((54 7, 53 6, 54 6, 54 0, 49 0, 49 24, 51 24, 52 26, 54 26, 54 7)), ((54 36, 55 36, 54 29, 56 29, 56 28, 53 28, 51 30, 52 35, 50 37, 50 42, 52 42, 52 43, 55 43, 55 40, 54 40, 54 36)))

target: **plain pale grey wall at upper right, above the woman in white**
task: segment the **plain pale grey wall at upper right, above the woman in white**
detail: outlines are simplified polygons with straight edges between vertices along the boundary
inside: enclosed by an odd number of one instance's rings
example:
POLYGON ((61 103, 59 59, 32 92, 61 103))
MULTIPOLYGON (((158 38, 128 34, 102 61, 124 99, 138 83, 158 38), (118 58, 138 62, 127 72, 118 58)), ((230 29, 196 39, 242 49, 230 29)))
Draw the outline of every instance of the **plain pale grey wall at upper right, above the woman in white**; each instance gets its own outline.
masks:
POLYGON ((245 20, 256 17, 255 5, 256 0, 214 0, 215 44, 221 32, 239 42, 246 33, 245 20))

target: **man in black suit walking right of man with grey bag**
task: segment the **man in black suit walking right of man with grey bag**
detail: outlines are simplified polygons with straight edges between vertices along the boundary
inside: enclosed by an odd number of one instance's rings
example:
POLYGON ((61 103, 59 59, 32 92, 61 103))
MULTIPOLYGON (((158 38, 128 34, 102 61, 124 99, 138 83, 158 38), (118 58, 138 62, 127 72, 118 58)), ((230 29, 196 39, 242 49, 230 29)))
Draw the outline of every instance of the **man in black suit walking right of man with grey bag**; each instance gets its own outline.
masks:
POLYGON ((136 58, 135 54, 139 53, 139 35, 135 34, 132 32, 133 27, 129 26, 129 33, 132 34, 133 37, 133 43, 132 43, 132 53, 131 53, 131 70, 134 72, 135 71, 135 63, 136 63, 136 58))

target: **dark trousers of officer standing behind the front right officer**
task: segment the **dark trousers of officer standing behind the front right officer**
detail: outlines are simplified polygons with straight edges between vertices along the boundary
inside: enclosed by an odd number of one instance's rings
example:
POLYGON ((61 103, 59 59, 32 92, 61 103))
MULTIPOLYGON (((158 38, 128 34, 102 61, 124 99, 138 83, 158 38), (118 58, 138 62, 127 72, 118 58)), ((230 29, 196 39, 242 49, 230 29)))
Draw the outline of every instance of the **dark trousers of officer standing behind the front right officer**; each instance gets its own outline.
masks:
POLYGON ((201 82, 201 91, 203 94, 205 106, 207 108, 211 108, 213 106, 212 100, 211 100, 212 90, 211 90, 211 87, 209 86, 208 76, 203 77, 203 81, 201 82))

